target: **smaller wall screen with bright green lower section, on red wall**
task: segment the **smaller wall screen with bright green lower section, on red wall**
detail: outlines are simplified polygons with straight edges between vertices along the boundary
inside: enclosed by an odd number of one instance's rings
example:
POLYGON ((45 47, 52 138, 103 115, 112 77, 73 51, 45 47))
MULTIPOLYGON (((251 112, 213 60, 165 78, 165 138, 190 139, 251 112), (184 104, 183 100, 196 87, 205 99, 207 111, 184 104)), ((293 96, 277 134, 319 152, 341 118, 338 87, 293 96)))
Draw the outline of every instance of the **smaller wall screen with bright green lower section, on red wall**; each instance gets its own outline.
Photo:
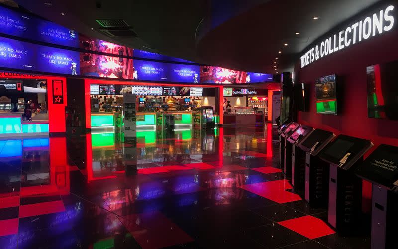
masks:
POLYGON ((316 112, 337 114, 336 75, 323 76, 315 80, 316 112))

